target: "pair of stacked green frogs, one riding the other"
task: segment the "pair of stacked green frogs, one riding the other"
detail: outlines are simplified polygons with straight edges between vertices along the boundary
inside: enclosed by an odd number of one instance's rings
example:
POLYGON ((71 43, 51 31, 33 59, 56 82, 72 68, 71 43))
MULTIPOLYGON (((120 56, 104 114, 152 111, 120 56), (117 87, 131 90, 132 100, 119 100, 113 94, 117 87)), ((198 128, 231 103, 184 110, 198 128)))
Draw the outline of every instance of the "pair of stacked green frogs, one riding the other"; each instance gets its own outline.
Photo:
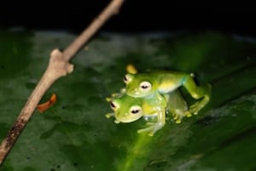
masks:
POLYGON ((137 73, 134 66, 126 68, 124 77, 125 88, 118 94, 107 98, 113 110, 106 117, 115 117, 115 123, 131 123, 144 117, 148 128, 139 129, 138 133, 148 132, 154 135, 166 123, 166 113, 172 113, 176 123, 181 123, 183 117, 197 114, 211 97, 212 87, 209 83, 196 85, 193 74, 178 71, 145 71, 137 73), (180 87, 185 88, 197 100, 188 106, 180 94, 180 87))

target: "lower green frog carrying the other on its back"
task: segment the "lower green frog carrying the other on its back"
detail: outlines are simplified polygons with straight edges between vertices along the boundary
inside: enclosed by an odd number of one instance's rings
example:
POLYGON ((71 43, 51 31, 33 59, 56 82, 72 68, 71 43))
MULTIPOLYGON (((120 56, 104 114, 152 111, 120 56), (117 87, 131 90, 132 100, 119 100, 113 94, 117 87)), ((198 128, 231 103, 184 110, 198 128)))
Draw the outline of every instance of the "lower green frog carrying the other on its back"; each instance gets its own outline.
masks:
POLYGON ((165 125, 166 113, 172 113, 176 123, 180 123, 185 116, 191 116, 187 103, 178 91, 174 91, 166 97, 154 94, 154 98, 148 99, 119 94, 108 98, 108 101, 110 101, 113 112, 108 113, 106 117, 115 117, 115 123, 131 123, 144 117, 146 121, 151 122, 147 123, 147 128, 139 129, 137 132, 149 132, 148 135, 151 136, 165 125))

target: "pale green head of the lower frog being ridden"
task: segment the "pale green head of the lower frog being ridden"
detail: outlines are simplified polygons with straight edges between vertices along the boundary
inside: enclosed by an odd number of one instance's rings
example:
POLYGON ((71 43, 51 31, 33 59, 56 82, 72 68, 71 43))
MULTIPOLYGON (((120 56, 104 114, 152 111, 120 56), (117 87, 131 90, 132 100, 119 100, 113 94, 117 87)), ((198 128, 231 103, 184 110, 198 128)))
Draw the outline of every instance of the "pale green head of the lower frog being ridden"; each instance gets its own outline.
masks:
POLYGON ((116 120, 121 123, 131 123, 143 117, 141 100, 128 95, 113 99, 110 107, 116 120))

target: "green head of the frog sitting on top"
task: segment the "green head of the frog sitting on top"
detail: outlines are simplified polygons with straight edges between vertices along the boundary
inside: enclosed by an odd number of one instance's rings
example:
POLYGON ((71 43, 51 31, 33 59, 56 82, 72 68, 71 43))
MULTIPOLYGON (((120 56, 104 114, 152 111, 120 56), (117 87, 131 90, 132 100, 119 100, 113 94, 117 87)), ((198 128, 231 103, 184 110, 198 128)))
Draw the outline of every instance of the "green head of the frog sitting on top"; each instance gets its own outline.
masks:
POLYGON ((132 97, 145 97, 157 90, 157 82, 151 74, 127 73, 124 77, 126 93, 132 97))

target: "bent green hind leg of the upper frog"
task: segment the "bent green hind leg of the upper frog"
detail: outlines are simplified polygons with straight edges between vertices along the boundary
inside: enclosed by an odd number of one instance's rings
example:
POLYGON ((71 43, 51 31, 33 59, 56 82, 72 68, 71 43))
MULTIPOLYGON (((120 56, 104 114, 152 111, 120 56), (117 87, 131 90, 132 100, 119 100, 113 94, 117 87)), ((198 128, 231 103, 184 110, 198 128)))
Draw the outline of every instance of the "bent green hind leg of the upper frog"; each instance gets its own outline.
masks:
POLYGON ((188 90, 189 94, 195 100, 203 98, 202 100, 195 102, 195 104, 189 107, 189 111, 196 115, 198 111, 200 111, 209 102, 211 98, 212 86, 209 83, 197 86, 191 75, 186 77, 183 82, 183 86, 188 90))

